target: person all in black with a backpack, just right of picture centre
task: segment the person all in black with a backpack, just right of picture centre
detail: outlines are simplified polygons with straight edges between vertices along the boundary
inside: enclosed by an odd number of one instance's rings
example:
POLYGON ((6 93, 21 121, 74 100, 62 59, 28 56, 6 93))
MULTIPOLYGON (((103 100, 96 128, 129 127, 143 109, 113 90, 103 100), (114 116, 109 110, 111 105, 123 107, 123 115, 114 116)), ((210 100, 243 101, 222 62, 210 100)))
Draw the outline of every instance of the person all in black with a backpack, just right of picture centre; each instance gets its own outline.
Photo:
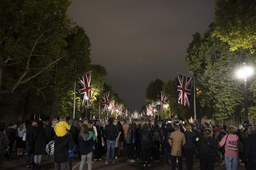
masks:
POLYGON ((146 166, 146 160, 148 161, 148 166, 151 166, 151 147, 153 138, 148 127, 148 123, 144 123, 143 125, 143 128, 140 132, 140 140, 143 166, 146 166))

